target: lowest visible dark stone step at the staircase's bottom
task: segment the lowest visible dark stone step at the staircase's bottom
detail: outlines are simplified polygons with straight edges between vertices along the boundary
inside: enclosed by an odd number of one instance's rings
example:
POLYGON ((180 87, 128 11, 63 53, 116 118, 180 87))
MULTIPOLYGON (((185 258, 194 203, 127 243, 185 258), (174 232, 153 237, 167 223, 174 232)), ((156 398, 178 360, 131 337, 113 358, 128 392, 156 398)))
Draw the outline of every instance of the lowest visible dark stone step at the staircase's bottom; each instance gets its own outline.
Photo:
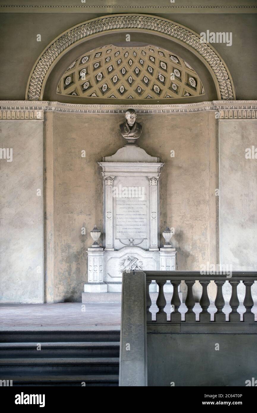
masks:
MULTIPOLYGON (((7 379, 8 380, 8 379, 7 379)), ((118 374, 101 375, 17 375, 12 374, 12 386, 119 386, 118 374)))

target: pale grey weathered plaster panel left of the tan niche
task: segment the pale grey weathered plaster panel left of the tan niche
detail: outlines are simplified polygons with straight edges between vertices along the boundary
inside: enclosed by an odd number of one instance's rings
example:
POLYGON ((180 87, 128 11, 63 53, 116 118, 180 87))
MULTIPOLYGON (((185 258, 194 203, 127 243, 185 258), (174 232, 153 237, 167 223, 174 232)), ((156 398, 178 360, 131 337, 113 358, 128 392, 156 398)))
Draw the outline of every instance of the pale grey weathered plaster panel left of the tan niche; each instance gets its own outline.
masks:
POLYGON ((43 121, 0 121, 0 302, 43 302, 43 121), (38 190, 41 190, 41 195, 38 190))

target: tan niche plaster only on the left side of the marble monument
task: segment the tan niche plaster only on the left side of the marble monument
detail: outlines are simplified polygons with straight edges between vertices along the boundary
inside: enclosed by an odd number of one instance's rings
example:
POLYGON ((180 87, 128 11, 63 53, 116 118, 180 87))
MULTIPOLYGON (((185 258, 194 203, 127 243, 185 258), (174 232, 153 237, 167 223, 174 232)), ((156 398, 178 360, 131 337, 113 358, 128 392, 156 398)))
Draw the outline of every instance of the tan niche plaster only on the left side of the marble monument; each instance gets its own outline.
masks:
POLYGON ((102 175, 97 161, 122 146, 108 116, 47 114, 45 121, 45 268, 48 301, 81 299, 94 223, 102 231, 102 175), (81 151, 86 157, 81 157, 81 151), (49 184, 50 182, 50 184, 49 184), (49 188, 48 188, 48 185, 49 188), (82 235, 82 228, 86 234, 82 235), (52 275, 53 274, 53 275, 52 275), (53 277, 53 279, 52 279, 53 277))

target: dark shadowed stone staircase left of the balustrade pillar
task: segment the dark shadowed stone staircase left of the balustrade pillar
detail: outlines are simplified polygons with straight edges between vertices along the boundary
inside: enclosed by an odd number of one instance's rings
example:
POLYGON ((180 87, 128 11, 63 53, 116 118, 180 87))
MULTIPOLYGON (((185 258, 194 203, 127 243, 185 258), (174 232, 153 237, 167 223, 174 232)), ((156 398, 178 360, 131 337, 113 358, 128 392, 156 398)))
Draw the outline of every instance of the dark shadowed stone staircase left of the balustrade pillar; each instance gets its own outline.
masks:
POLYGON ((0 380, 13 386, 118 386, 119 337, 118 328, 2 328, 0 380))

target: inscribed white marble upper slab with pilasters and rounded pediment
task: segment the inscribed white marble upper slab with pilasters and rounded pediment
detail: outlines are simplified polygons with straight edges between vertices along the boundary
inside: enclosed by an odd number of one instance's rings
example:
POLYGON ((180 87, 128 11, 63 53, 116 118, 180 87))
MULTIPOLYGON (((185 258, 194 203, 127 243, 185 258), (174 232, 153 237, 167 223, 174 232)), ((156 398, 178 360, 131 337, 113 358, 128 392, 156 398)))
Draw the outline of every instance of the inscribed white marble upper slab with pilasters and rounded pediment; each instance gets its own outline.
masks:
POLYGON ((121 249, 124 243, 127 245, 126 239, 134 238, 134 244, 142 241, 140 247, 143 249, 157 250, 158 180, 164 164, 136 146, 123 147, 98 163, 104 178, 105 247, 121 249), (156 179, 155 185, 150 183, 152 178, 156 179))

